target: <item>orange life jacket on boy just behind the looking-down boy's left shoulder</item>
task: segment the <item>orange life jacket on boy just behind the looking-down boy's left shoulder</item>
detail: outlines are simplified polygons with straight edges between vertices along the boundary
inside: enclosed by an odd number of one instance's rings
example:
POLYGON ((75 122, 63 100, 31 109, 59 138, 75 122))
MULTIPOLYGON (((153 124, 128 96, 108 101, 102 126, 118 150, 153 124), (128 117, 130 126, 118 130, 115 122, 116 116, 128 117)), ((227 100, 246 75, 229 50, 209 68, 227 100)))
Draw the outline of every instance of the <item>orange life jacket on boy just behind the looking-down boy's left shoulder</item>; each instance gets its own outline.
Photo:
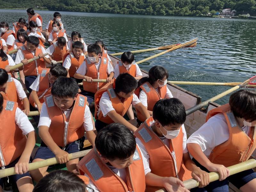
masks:
MULTIPOLYGON (((42 69, 42 72, 40 74, 39 91, 37 92, 37 96, 41 104, 44 103, 44 95, 51 94, 51 90, 52 90, 52 87, 50 87, 49 78, 48 78, 49 71, 50 71, 49 68, 44 68, 42 69)), ((33 107, 36 106, 36 103, 33 100, 31 94, 29 95, 28 100, 33 107)))

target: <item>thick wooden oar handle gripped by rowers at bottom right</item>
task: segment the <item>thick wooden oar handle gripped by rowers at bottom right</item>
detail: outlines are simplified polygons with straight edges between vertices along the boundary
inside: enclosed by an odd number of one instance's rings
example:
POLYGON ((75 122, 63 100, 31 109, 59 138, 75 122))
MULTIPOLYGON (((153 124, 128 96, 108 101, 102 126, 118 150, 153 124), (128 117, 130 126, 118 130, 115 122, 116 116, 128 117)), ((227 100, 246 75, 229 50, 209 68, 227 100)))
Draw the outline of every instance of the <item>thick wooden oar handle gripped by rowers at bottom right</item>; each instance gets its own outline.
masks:
MULTIPOLYGON (((239 173, 248 169, 252 169, 254 167, 256 167, 256 159, 249 159, 248 161, 245 161, 236 165, 232 165, 227 168, 230 171, 230 175, 234 175, 236 173, 239 173)), ((209 176, 210 176, 210 182, 220 179, 220 174, 218 172, 210 172, 209 176)), ((187 189, 192 189, 199 186, 199 182, 194 179, 183 181, 183 184, 187 189)), ((156 192, 167 192, 167 191, 166 189, 160 189, 156 192)))

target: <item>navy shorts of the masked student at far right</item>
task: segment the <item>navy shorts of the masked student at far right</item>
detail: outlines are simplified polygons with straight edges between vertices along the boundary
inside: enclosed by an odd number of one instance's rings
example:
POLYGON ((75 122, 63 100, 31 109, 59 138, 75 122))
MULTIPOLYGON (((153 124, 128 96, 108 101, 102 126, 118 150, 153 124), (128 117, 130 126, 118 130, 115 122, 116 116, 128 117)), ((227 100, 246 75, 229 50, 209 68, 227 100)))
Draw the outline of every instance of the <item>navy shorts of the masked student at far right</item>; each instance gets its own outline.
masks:
MULTIPOLYGON (((196 166, 200 167, 200 169, 209 172, 204 166, 199 164, 196 159, 192 159, 196 166)), ((253 171, 253 169, 249 169, 240 173, 236 173, 234 175, 229 176, 227 179, 222 181, 213 181, 209 183, 209 185, 205 186, 204 188, 193 188, 190 189, 190 192, 206 192, 206 191, 212 191, 212 192, 228 192, 228 184, 231 182, 236 188, 240 189, 242 186, 244 186, 249 181, 256 178, 256 173, 253 171)))

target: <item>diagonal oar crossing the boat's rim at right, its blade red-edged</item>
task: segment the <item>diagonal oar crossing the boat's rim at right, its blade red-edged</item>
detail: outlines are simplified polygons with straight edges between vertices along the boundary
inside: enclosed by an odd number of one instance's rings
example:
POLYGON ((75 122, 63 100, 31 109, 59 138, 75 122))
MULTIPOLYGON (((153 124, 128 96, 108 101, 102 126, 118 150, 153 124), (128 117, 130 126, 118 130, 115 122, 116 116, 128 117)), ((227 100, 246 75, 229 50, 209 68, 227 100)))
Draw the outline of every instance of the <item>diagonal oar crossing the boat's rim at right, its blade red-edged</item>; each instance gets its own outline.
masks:
POLYGON ((188 110, 186 110, 186 115, 189 115, 191 113, 194 113, 195 111, 203 108, 204 106, 208 105, 209 102, 212 102, 212 101, 215 101, 217 99, 220 99, 221 97, 224 97, 225 95, 227 95, 228 93, 231 93, 237 89, 239 89, 240 87, 243 87, 244 85, 250 83, 251 81, 255 80, 256 79, 256 76, 253 76, 252 78, 250 79, 247 79, 246 81, 244 81, 243 83, 239 84, 239 85, 236 85, 235 87, 232 87, 231 89, 228 89, 227 91, 224 91, 222 93, 220 93, 219 95, 216 95, 215 97, 212 97, 211 99, 208 99, 192 108, 189 108, 188 110))

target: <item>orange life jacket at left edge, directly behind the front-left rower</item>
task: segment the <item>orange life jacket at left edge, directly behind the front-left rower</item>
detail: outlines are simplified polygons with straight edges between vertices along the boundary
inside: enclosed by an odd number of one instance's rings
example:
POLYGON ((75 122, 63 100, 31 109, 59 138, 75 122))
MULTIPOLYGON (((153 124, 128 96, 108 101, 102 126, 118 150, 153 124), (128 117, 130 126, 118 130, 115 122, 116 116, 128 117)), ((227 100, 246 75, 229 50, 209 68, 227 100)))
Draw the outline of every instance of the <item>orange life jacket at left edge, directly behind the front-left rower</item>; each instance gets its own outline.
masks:
POLYGON ((4 92, 0 92, 3 95, 3 98, 5 100, 9 100, 9 101, 13 101, 15 103, 18 103, 18 107, 20 109, 23 109, 23 103, 19 98, 18 92, 16 90, 16 85, 12 79, 11 74, 8 74, 9 78, 5 87, 5 91, 4 92))

